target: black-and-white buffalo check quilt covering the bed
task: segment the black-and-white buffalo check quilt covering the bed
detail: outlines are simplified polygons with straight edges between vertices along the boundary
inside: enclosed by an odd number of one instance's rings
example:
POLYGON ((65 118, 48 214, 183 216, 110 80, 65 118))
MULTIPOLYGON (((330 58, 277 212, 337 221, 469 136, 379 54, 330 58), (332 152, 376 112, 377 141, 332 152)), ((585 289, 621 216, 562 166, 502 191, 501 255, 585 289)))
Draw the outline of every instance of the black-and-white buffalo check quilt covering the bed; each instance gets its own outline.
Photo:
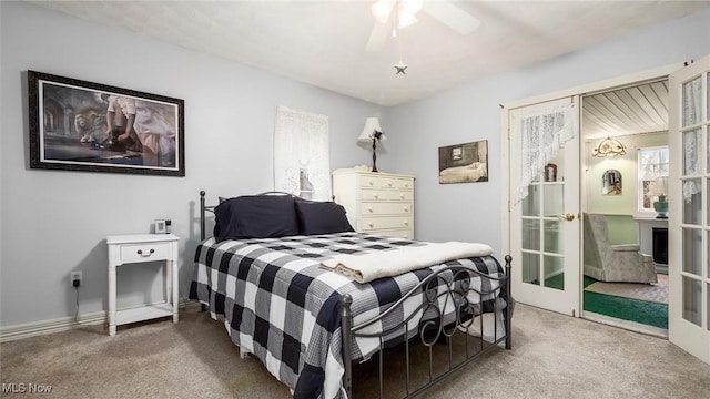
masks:
MULTIPOLYGON (((190 298, 207 305, 212 318, 224 323, 232 341, 257 356, 272 375, 293 390, 294 398, 339 398, 345 396, 342 386, 342 295, 353 297, 353 321, 357 326, 382 314, 433 270, 445 265, 460 264, 494 277, 504 276, 493 256, 450 260, 368 284, 321 267, 322 260, 339 254, 365 254, 422 244, 359 233, 221 243, 209 238, 195 252, 190 298)), ((479 291, 495 293, 475 299, 478 313, 505 308, 505 285, 498 287, 497 282, 486 278, 473 278, 470 284, 479 291)), ((405 316, 416 313, 422 301, 422 293, 412 296, 404 307, 369 326, 367 332, 399 325, 405 316)), ((385 345, 400 342, 405 335, 407 338, 414 336, 420 318, 422 311, 414 318, 415 323, 407 324, 406 332, 385 337, 385 345)), ((354 339, 353 360, 369 358, 379 345, 378 338, 354 339)))

